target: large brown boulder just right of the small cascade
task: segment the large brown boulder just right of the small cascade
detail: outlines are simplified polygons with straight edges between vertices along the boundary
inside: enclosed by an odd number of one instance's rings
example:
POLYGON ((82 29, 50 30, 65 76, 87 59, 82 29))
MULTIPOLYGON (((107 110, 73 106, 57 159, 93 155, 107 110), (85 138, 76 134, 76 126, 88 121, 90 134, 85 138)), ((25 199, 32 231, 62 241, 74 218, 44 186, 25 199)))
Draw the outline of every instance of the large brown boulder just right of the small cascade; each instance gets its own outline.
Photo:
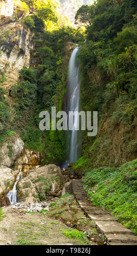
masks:
POLYGON ((27 203, 58 196, 63 188, 64 176, 55 164, 28 170, 27 176, 18 182, 18 199, 27 203))

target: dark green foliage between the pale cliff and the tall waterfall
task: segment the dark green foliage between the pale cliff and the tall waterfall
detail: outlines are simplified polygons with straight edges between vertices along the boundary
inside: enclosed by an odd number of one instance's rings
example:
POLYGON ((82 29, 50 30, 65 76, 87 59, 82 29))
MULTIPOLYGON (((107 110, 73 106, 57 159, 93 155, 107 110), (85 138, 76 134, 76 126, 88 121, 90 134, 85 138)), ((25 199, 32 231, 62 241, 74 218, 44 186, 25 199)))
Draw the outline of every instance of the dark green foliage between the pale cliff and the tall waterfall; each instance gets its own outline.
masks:
MULTIPOLYGON (((31 1, 26 3, 31 9, 31 1)), ((25 147, 41 151, 43 164, 59 164, 65 154, 64 132, 42 132, 39 129, 39 114, 44 110, 50 113, 52 106, 56 106, 56 111, 62 110, 70 54, 66 45, 68 41, 83 41, 84 36, 80 29, 71 27, 62 27, 53 32, 44 31, 44 21, 40 17, 33 14, 31 19, 34 21, 35 32, 36 50, 32 53, 35 69, 24 67, 18 83, 11 88, 10 96, 15 98, 12 129, 19 130, 25 147)))

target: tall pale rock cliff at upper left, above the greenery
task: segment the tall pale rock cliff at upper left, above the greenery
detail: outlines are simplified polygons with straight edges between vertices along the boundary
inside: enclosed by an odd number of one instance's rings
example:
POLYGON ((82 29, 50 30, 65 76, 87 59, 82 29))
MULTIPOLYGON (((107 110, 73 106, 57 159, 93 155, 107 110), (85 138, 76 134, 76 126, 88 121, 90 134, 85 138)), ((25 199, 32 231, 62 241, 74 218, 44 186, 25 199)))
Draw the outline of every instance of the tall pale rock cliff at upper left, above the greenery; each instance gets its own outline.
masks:
POLYGON ((2 86, 10 91, 11 86, 17 82, 19 71, 30 66, 30 50, 33 48, 32 33, 21 23, 11 22, 0 27, 1 57, 0 69, 4 72, 6 81, 2 86))

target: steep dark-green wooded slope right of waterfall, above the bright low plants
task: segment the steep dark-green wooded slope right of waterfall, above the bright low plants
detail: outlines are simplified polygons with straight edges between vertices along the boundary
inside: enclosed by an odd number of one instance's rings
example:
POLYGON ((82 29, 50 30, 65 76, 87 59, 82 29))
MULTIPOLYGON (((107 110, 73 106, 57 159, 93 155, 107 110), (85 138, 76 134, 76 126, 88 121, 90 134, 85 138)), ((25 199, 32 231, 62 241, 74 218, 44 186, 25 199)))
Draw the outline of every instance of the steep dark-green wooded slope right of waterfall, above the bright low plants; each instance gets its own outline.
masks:
POLYGON ((75 16, 87 34, 79 51, 81 109, 98 111, 99 132, 87 138, 82 131, 82 158, 74 169, 120 166, 136 158, 136 11, 134 0, 98 0, 75 16))

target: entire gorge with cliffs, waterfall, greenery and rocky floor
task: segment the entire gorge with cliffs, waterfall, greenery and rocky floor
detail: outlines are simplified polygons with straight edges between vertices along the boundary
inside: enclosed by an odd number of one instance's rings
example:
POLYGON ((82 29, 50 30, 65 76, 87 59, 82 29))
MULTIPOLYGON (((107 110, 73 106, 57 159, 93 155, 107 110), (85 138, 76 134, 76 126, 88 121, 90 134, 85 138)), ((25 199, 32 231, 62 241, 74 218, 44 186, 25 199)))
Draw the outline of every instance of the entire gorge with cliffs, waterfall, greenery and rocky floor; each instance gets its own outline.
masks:
MULTIPOLYGON (((66 231, 50 222, 59 227, 61 218, 68 232, 82 230, 74 245, 89 245, 92 238, 94 245, 110 244, 96 230, 97 216, 83 216, 81 193, 90 202, 87 209, 108 211, 110 222, 114 217, 127 233, 137 234, 136 13, 135 0, 0 2, 0 234, 8 216, 21 222, 20 212, 29 228, 33 218, 44 223, 47 217, 48 230, 54 225, 67 243, 66 231), (41 130, 39 115, 52 108, 98 113, 98 132, 41 130), (90 241, 84 231, 92 233, 90 241)), ((116 243, 127 241, 127 233, 116 243)), ((27 243, 25 234, 12 244, 27 243)))

